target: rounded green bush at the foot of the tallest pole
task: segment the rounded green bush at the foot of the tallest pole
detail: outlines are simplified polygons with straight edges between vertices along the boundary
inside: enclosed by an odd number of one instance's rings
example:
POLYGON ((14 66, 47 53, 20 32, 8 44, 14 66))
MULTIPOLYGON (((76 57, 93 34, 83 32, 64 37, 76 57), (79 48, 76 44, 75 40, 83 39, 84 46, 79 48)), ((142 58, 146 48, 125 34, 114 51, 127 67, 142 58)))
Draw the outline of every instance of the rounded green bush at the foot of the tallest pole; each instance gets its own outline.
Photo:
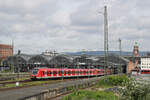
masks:
POLYGON ((98 86, 124 86, 129 81, 126 75, 113 75, 101 78, 98 86))

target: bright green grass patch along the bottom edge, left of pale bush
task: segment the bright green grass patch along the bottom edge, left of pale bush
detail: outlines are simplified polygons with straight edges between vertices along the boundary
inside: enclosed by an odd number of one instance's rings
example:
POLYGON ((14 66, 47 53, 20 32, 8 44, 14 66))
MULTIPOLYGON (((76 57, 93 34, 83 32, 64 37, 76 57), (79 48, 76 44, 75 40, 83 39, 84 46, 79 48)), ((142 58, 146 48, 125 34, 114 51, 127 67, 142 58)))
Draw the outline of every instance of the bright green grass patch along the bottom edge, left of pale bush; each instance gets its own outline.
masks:
POLYGON ((80 90, 62 100, 119 100, 112 92, 80 90))

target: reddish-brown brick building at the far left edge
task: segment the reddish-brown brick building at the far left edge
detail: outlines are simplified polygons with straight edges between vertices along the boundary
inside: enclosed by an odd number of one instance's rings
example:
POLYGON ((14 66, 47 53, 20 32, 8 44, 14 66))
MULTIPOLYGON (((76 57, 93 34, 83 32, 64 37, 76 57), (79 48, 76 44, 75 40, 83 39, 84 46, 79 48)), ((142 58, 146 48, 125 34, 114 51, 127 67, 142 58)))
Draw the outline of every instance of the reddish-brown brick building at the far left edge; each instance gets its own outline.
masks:
POLYGON ((5 59, 8 56, 12 55, 13 55, 12 45, 0 44, 0 59, 5 59))

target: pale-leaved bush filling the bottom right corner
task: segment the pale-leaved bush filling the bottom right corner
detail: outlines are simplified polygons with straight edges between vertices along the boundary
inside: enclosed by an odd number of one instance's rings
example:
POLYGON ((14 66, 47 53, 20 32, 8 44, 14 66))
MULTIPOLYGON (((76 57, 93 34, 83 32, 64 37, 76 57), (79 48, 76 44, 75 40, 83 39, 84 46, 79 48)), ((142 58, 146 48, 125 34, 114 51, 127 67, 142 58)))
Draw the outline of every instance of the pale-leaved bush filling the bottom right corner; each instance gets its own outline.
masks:
POLYGON ((131 79, 124 89, 120 89, 121 100, 150 100, 150 84, 131 79))

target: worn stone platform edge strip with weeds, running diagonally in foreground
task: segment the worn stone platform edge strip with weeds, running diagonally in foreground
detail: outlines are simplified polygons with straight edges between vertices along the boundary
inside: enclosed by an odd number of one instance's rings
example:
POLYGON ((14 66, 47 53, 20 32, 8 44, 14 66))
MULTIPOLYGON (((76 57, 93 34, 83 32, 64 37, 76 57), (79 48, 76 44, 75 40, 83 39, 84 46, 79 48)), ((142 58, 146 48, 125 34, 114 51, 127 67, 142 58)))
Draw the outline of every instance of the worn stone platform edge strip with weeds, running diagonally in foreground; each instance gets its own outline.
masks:
POLYGON ((97 83, 99 78, 94 78, 92 80, 80 80, 78 83, 70 84, 68 86, 60 86, 53 89, 47 89, 42 91, 39 94, 32 95, 29 97, 22 98, 20 100, 47 100, 47 99, 55 99, 58 96, 62 96, 68 93, 71 93, 74 90, 88 88, 97 83))

